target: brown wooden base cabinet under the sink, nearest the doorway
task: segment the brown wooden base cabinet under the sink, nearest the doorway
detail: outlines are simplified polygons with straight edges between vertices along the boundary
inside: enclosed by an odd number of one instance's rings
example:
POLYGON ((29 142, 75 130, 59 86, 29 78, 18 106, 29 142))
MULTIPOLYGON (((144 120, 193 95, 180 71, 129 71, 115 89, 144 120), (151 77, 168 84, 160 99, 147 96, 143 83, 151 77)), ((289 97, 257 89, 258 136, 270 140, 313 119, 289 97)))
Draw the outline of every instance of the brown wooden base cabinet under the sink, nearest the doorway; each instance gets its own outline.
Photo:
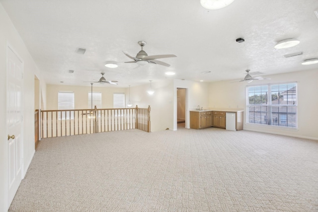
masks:
POLYGON ((190 128, 202 129, 212 126, 211 111, 190 111, 190 128))

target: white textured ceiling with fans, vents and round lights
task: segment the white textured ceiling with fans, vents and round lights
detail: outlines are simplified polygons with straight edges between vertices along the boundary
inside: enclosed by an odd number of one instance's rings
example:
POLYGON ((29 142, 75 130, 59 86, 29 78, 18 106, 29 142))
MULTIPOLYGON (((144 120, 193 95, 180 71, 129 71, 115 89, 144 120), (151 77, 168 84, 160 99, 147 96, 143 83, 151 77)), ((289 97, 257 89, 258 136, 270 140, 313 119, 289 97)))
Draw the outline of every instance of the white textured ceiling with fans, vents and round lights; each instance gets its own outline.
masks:
POLYGON ((90 86, 83 81, 107 80, 128 87, 148 80, 178 78, 219 81, 242 79, 246 69, 263 75, 318 69, 301 65, 318 58, 318 0, 235 0, 219 10, 207 10, 200 0, 0 0, 48 84, 90 86), (237 38, 245 39, 237 43, 237 38), (298 46, 275 50, 283 39, 298 46), (159 59, 169 68, 131 61, 138 41, 148 55, 175 54, 159 59), (84 55, 77 48, 86 48, 84 55), (304 52, 301 56, 284 55, 304 52), (138 67, 138 68, 136 68, 138 67), (74 70, 74 73, 69 73, 74 70), (173 76, 164 72, 174 71, 173 76), (210 73, 202 73, 211 71, 210 73))

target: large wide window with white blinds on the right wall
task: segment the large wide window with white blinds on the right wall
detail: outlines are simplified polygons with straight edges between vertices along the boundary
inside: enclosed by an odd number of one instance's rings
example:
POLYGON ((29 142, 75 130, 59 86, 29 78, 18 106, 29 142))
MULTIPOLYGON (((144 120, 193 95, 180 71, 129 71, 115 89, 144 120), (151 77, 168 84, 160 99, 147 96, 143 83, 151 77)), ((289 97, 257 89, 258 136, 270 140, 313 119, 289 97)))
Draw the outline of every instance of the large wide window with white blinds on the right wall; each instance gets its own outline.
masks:
POLYGON ((246 122, 297 128, 297 83, 247 86, 246 122))

